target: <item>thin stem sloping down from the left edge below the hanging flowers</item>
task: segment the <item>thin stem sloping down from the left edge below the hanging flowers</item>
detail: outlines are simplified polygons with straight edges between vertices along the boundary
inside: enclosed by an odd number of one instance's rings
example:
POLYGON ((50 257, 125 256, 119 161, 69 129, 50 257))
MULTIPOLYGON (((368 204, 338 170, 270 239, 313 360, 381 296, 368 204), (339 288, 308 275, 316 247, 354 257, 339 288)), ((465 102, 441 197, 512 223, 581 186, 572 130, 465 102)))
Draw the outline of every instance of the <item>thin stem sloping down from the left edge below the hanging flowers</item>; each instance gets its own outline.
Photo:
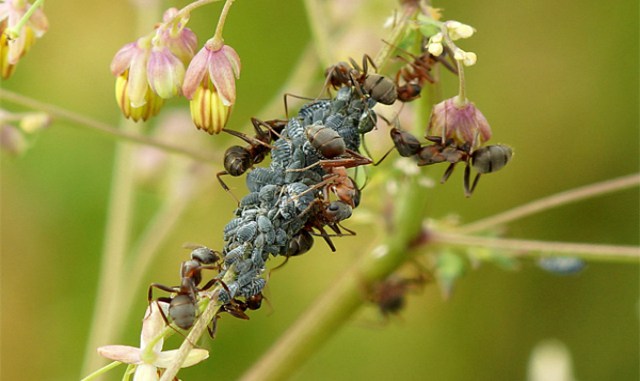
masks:
POLYGON ((13 103, 27 106, 34 110, 44 111, 54 117, 68 120, 81 127, 87 127, 96 131, 106 133, 118 139, 124 139, 130 142, 156 147, 166 152, 185 155, 204 163, 220 161, 220 155, 206 155, 187 147, 180 147, 171 143, 165 143, 160 140, 141 135, 137 132, 138 129, 123 130, 120 128, 116 128, 109 124, 99 122, 97 120, 88 118, 69 110, 65 110, 61 107, 44 102, 39 102, 32 98, 25 97, 8 90, 0 89, 0 99, 6 99, 13 103))

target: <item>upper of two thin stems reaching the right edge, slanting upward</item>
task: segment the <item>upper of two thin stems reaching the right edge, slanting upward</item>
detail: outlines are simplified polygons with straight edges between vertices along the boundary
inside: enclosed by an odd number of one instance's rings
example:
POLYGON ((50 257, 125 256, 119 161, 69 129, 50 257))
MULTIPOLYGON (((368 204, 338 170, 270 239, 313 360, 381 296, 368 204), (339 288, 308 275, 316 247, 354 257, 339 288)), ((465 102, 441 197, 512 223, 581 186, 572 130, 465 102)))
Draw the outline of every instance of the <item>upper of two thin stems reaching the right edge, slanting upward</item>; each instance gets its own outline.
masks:
POLYGON ((525 218, 532 214, 544 212, 552 208, 582 201, 588 198, 601 196, 611 192, 618 192, 624 189, 637 187, 640 185, 640 174, 633 174, 607 180, 595 184, 589 184, 584 187, 571 189, 568 191, 556 193, 551 196, 541 198, 529 202, 525 205, 507 210, 491 217, 483 218, 479 221, 463 225, 454 231, 460 234, 470 234, 491 229, 493 227, 504 225, 521 218, 525 218))

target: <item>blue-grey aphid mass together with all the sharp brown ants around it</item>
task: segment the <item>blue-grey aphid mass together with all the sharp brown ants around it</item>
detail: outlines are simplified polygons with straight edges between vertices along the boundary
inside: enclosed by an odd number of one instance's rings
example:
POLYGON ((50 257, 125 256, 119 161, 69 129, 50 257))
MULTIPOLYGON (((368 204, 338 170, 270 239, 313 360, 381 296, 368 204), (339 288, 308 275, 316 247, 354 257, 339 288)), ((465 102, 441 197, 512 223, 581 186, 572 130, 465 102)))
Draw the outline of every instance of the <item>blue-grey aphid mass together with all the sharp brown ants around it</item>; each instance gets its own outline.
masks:
MULTIPOLYGON (((314 236, 321 236, 335 251, 331 237, 355 234, 340 225, 360 201, 360 190, 347 169, 372 163, 358 152, 361 136, 372 131, 377 121, 372 108, 376 103, 416 99, 424 82, 432 82, 429 71, 436 60, 413 57, 399 71, 395 82, 382 75, 368 74, 368 62, 372 63, 365 56, 362 68, 353 60, 330 67, 325 86, 337 90, 333 98, 308 102, 297 116, 288 120, 253 118, 256 132, 253 137, 224 130, 248 145, 232 146, 226 151, 225 170, 218 173, 218 180, 228 191, 221 176, 248 172, 249 193, 239 200, 234 217, 224 227, 221 253, 196 248, 191 259, 182 263, 180 286, 156 283, 150 286, 149 302, 153 300, 153 288, 175 293, 172 298, 159 300, 170 304, 168 315, 178 327, 191 328, 199 293, 214 284, 221 286, 218 294, 223 303, 221 311, 248 319, 245 311, 261 305, 266 285, 265 263, 270 256, 288 259, 303 254, 313 246, 314 236), (271 155, 269 166, 254 168, 267 154, 271 155), (199 287, 203 269, 217 270, 218 274, 199 287)), ((391 138, 399 154, 413 157, 419 166, 449 163, 443 181, 455 164, 465 162, 467 195, 473 192, 480 174, 502 168, 511 157, 508 146, 482 146, 490 135, 477 142, 474 138, 470 145, 459 145, 449 137, 449 132, 437 131, 438 136, 431 136, 427 131, 426 138, 431 144, 426 144, 394 127, 391 138), (477 172, 472 184, 471 167, 477 172)), ((214 325, 216 320, 217 317, 214 325)))

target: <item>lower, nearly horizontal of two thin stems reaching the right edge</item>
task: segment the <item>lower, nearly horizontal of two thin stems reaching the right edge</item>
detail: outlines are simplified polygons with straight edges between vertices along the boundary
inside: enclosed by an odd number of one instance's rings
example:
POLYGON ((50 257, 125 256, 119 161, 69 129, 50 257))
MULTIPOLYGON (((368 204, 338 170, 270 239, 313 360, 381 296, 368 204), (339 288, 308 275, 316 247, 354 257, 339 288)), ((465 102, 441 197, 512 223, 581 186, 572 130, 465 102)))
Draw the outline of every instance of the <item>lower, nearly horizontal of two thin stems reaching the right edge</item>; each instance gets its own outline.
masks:
POLYGON ((442 231, 429 232, 429 243, 452 246, 477 246, 509 251, 512 256, 541 256, 567 254, 585 260, 638 263, 640 247, 584 244, 573 242, 544 242, 522 239, 476 237, 442 231))

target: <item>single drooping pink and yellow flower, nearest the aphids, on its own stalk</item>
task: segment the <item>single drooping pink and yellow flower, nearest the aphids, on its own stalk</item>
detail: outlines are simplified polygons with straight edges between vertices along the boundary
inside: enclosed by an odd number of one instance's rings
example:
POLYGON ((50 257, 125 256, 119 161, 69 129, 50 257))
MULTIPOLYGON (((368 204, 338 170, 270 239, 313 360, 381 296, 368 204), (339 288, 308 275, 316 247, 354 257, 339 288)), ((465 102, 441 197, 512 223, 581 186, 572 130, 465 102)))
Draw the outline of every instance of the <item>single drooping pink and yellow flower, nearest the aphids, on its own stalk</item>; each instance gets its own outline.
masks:
POLYGON ((235 81, 240 57, 222 41, 211 39, 195 55, 185 74, 182 92, 191 102, 196 127, 217 134, 227 123, 236 101, 235 81))

